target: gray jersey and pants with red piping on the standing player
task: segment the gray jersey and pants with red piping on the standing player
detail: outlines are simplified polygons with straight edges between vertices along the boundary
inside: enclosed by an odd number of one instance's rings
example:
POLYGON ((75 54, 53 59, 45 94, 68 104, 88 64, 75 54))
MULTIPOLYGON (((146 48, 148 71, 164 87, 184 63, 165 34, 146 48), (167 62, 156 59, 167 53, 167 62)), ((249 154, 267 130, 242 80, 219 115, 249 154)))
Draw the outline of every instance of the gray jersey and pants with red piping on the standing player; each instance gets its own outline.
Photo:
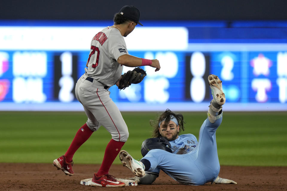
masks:
POLYGON ((77 81, 75 92, 88 116, 88 127, 96 131, 102 125, 115 141, 126 142, 128 128, 116 104, 110 98, 109 87, 116 84, 123 71, 117 59, 128 54, 120 31, 106 27, 91 41, 88 68, 77 81))

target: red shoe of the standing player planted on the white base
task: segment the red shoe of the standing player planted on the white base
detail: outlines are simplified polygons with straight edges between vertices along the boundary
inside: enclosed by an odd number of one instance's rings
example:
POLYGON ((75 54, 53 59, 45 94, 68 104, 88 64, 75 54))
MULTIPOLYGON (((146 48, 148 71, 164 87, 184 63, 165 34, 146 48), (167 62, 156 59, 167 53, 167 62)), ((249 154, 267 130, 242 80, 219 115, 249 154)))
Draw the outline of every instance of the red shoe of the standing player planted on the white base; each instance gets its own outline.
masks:
POLYGON ((117 181, 114 176, 106 174, 97 176, 94 173, 94 177, 91 181, 91 186, 97 187, 125 187, 126 184, 120 181, 117 181))

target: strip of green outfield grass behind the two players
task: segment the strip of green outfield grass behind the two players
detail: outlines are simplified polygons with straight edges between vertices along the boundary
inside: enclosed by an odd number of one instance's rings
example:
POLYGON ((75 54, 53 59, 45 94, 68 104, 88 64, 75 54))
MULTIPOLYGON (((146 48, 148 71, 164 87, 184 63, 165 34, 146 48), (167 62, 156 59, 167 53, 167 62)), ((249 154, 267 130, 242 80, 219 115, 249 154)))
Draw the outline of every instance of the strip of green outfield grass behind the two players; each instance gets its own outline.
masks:
MULTIPOLYGON (((123 112, 129 139, 122 149, 141 158, 156 112, 123 112)), ((198 138, 205 112, 183 113, 186 130, 198 138)), ((216 132, 221 165, 287 166, 287 112, 224 112, 216 132)), ((86 122, 84 112, 0 112, 0 162, 51 163, 68 149, 86 122)), ((75 153, 76 163, 100 164, 111 135, 100 127, 75 153)), ((116 158, 114 164, 120 164, 116 158)))

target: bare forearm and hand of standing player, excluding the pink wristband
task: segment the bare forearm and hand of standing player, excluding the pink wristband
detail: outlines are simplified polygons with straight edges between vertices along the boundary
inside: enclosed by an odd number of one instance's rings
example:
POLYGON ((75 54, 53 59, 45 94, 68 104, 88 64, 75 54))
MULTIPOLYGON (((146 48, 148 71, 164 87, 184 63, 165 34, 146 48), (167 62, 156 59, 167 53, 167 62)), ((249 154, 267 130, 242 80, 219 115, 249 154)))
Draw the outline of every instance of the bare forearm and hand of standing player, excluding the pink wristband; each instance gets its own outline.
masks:
MULTIPOLYGON (((132 56, 129 54, 124 54, 122 56, 120 56, 117 59, 117 62, 121 65, 127 66, 127 67, 138 67, 138 66, 142 66, 142 59, 138 58, 136 56, 132 56)), ((155 69, 155 72, 161 69, 161 65, 159 64, 159 61, 157 59, 153 59, 151 60, 152 64, 150 65, 155 69)))

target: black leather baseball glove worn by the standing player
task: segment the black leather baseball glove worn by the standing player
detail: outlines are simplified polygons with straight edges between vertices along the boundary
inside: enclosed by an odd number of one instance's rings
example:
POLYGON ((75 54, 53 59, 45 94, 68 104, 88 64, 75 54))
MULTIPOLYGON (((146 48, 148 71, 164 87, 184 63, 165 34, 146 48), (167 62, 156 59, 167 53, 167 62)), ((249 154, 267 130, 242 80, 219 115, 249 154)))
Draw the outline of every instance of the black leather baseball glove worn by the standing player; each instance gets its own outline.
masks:
POLYGON ((122 78, 119 82, 119 89, 124 90, 126 87, 129 87, 131 84, 138 84, 143 81, 144 77, 146 76, 146 72, 137 67, 132 71, 129 70, 122 75, 122 78))

